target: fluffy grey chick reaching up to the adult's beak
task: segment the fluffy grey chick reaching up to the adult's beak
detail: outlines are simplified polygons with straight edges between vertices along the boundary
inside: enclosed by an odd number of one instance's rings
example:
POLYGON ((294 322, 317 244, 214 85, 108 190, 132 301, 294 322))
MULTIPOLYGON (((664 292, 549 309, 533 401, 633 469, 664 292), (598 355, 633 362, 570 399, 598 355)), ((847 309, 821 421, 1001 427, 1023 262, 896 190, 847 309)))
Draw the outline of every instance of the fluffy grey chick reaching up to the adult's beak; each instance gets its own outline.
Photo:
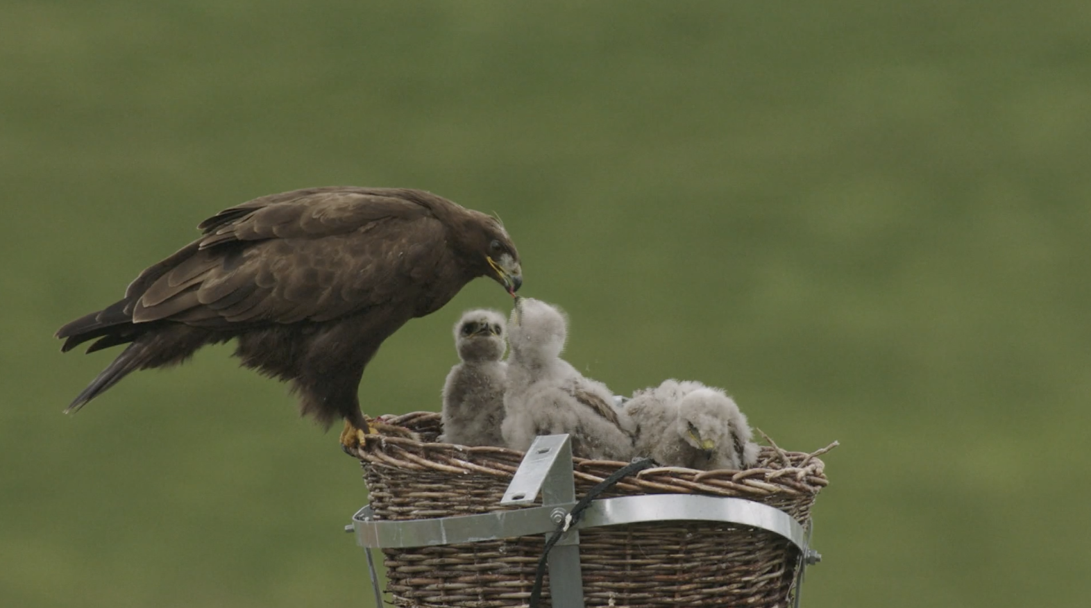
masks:
POLYGON ((507 324, 504 441, 526 451, 536 436, 568 433, 572 452, 585 458, 628 461, 636 426, 613 406, 606 384, 584 378, 561 358, 567 321, 556 308, 518 298, 507 324))

